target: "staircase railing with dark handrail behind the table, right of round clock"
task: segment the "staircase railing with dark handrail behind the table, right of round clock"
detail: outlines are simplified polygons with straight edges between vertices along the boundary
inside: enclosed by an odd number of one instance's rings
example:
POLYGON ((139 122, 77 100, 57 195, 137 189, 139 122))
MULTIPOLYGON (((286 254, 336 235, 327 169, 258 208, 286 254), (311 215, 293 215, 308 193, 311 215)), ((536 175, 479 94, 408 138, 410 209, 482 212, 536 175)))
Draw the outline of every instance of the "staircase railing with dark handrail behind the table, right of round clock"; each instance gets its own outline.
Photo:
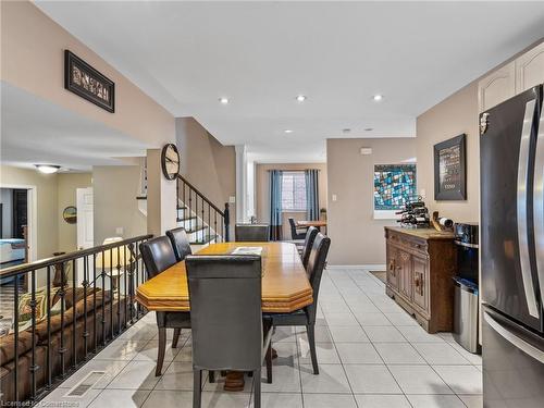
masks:
POLYGON ((176 178, 177 223, 185 227, 191 245, 230 240, 230 210, 221 210, 181 174, 176 178))

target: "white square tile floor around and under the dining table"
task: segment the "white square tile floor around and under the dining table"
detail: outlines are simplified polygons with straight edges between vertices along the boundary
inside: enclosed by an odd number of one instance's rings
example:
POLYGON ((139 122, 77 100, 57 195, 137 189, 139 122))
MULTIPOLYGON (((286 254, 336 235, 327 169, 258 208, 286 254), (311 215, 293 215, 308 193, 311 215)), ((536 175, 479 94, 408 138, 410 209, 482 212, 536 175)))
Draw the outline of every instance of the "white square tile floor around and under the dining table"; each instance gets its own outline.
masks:
MULTIPOLYGON (((482 407, 481 357, 465 351, 450 333, 424 332, 384 292, 384 285, 366 271, 325 271, 316 327, 320 374, 312 373, 305 330, 279 329, 274 335, 279 358, 273 383, 262 383, 262 406, 482 407)), ((191 407, 189 332, 183 333, 177 349, 168 346, 161 378, 154 376, 156 356, 157 327, 149 313, 46 401, 72 403, 71 407, 191 407), (83 398, 66 397, 92 370, 106 371, 96 387, 83 398)), ((206 381, 202 407, 251 407, 251 383, 246 378, 244 392, 226 393, 221 380, 206 381)))

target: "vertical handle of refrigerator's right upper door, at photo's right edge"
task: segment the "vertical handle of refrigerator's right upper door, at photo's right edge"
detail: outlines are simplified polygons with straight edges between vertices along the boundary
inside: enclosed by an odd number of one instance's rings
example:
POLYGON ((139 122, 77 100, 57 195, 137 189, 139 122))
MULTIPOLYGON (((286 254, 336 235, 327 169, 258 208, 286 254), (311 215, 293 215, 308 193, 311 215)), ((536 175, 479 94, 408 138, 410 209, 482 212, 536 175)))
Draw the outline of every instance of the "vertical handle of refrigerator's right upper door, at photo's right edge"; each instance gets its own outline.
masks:
POLYGON ((541 302, 544 302, 544 103, 541 109, 533 185, 534 246, 541 302))

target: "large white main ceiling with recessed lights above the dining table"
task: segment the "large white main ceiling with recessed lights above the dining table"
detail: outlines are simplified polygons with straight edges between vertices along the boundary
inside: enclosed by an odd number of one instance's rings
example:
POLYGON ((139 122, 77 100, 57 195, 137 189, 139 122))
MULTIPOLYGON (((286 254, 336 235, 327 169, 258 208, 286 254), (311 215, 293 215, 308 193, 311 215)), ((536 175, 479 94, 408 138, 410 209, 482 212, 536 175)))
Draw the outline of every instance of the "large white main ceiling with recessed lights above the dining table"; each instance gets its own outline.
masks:
POLYGON ((37 4, 175 116, 261 161, 322 161, 346 127, 413 137, 417 115, 544 37, 543 2, 37 4))

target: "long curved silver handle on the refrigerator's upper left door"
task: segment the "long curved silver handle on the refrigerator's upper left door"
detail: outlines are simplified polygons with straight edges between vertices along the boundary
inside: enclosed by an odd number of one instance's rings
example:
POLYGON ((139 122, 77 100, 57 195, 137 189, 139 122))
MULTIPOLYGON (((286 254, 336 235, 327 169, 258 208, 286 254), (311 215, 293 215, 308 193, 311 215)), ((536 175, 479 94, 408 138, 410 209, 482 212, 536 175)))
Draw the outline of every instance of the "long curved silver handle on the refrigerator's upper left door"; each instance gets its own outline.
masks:
POLYGON ((519 261, 521 264, 521 277, 523 280, 523 289, 526 292, 527 307, 529 314, 539 319, 539 306, 534 294, 533 277, 531 273, 531 260, 529 257, 529 227, 527 213, 527 194, 529 177, 529 160, 531 147, 531 131, 533 127, 533 116, 536 100, 532 99, 526 104, 526 114, 523 116, 523 128, 521 131, 521 141, 519 146, 518 161, 518 194, 517 194, 517 215, 518 215, 518 245, 519 261))

